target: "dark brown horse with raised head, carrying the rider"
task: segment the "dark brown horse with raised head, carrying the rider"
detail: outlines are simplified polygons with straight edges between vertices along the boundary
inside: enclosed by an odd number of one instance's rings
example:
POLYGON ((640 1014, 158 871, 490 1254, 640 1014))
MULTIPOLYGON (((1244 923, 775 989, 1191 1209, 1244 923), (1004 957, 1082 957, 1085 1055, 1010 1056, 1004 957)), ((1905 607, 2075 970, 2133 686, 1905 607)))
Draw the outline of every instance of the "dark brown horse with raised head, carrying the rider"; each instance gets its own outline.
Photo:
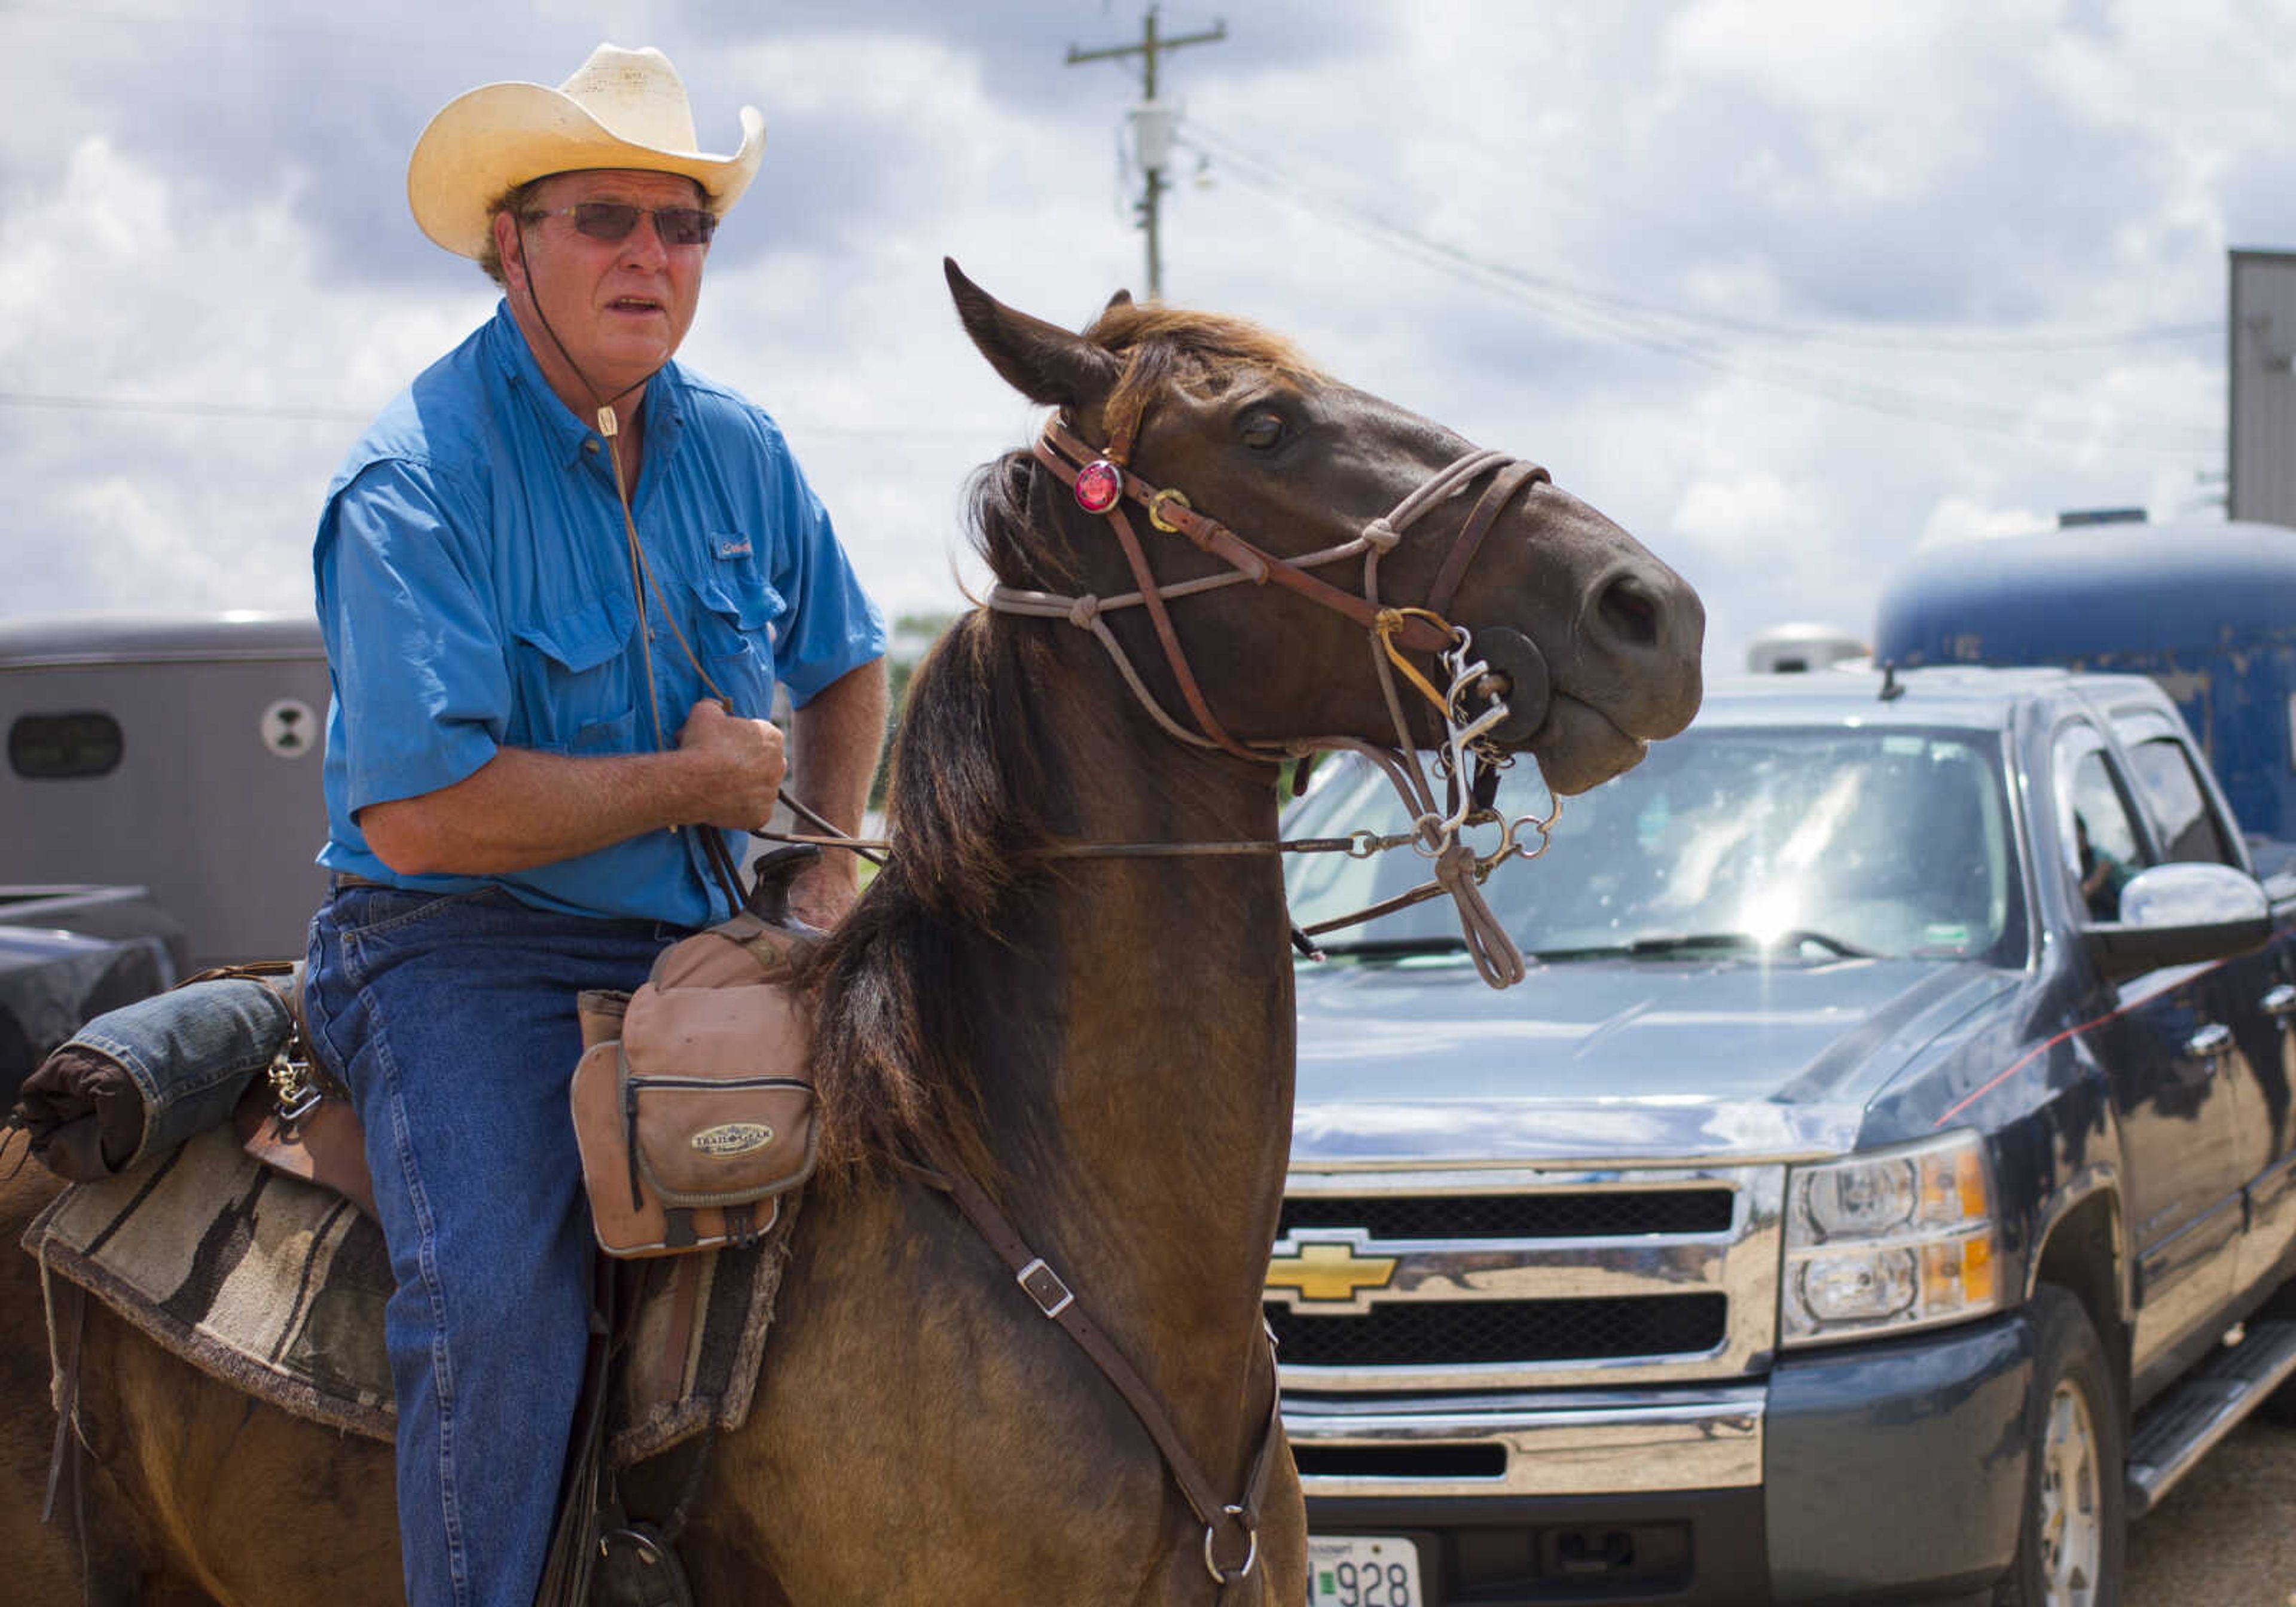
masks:
MULTIPOLYGON (((1467 455, 1233 319, 1118 298, 1079 337, 953 266, 951 287, 987 360, 1072 436, 1132 436, 1141 482, 1185 489, 1277 556, 1355 539, 1467 455)), ((1430 595, 1479 491, 1426 498, 1380 569, 1387 599, 1430 595)), ((1587 505, 1543 478, 1518 491, 1469 542, 1446 613, 1543 650, 1552 705, 1527 746, 1557 792, 1580 792, 1690 721, 1701 611, 1587 505)), ((985 466, 974 503, 1006 597, 1137 590, 1111 521, 1031 452, 985 466)), ((1146 514, 1132 505, 1159 583, 1224 569, 1146 514)), ((1189 707, 1148 613, 1111 608, 1111 638, 1139 691, 1189 707)), ((1371 638, 1345 613, 1233 585, 1173 597, 1171 624, 1238 748, 1394 742, 1371 638)), ((1435 735, 1428 709, 1414 721, 1435 735)), ((700 1600, 1215 1598, 1203 1524, 1141 1423, 946 1196, 889 1157, 967 1157, 1210 1483, 1240 1492, 1277 1387, 1261 1288, 1293 1102, 1281 875, 1272 856, 1040 849, 1265 843, 1270 783, 1267 764, 1176 742, 1104 645, 1058 618, 980 608, 918 670, 893 762, 898 856, 813 976, 836 1148, 799 1217, 758 1405, 716 1442, 680 1545, 700 1600)), ((14 1185, 0 1231, 18 1233, 41 1191, 14 1185)), ((78 1600, 69 1538, 34 1529, 53 1421, 39 1283, 30 1258, 0 1260, 9 1596, 78 1600)), ((64 1508, 85 1517, 99 1600, 400 1598, 388 1446, 259 1407, 96 1304, 80 1419, 85 1488, 64 1508)), ((673 1451, 641 1467, 631 1506, 664 1511, 682 1465, 673 1451)), ((1304 1598, 1304 1540, 1277 1446, 1251 1600, 1304 1598)))

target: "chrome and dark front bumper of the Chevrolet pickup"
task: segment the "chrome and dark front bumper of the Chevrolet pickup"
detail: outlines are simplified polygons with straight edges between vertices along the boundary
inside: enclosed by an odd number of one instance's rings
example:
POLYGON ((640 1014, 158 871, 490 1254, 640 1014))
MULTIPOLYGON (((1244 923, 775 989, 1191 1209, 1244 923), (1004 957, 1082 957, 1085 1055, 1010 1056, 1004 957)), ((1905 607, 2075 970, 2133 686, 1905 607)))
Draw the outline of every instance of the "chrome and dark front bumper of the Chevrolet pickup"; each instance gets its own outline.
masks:
POLYGON ((1419 1540, 1428 1602, 1979 1596, 2016 1552, 2018 1315, 1727 1389, 1286 1400, 1316 1534, 1419 1540))

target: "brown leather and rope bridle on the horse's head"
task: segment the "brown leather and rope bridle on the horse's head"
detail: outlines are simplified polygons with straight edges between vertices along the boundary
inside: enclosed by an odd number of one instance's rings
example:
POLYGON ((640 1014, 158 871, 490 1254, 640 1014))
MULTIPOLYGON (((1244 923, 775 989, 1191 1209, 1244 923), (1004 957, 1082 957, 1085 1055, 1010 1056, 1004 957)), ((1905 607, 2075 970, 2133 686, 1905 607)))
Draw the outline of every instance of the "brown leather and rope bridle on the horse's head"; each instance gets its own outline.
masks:
MULTIPOLYGON (((1364 753, 1387 774, 1387 781, 1403 797, 1405 808, 1412 810, 1412 831, 1403 840, 1433 861, 1435 879, 1412 893, 1405 893, 1403 898, 1375 905, 1373 909, 1357 911, 1339 921, 1325 921, 1311 927, 1309 937, 1339 925, 1368 921, 1378 914, 1389 914, 1391 909, 1401 909, 1403 905, 1412 905, 1437 893, 1449 893, 1453 905, 1458 905, 1460 932, 1467 939, 1467 953, 1474 957, 1476 971, 1481 971, 1483 980, 1492 987, 1508 987, 1522 980, 1522 953, 1506 934, 1506 927, 1499 925, 1497 916, 1490 911, 1490 905, 1483 900, 1481 884, 1492 868, 1506 859, 1536 859, 1545 849, 1545 836, 1554 815, 1550 813, 1545 820, 1525 817, 1506 822, 1499 847, 1490 854, 1476 854, 1474 847, 1460 838, 1460 833, 1469 824, 1504 820, 1492 808, 1492 799, 1499 771, 1513 762, 1513 755, 1499 744, 1520 744, 1529 739, 1545 719, 1548 666, 1545 657, 1527 636, 1506 627, 1486 629, 1483 652, 1479 654, 1474 636, 1465 627, 1451 624, 1444 618, 1444 611, 1451 606, 1458 583, 1465 579, 1467 567, 1481 551, 1483 537, 1490 535, 1490 528, 1499 521, 1499 514, 1527 487, 1545 482, 1550 478, 1548 471, 1508 457, 1506 452, 1467 452, 1428 475, 1410 496, 1378 519, 1368 521, 1352 539, 1341 542, 1339 546, 1304 553, 1300 558, 1279 558, 1277 553, 1247 542, 1217 519, 1199 512, 1185 491, 1176 487, 1157 487, 1134 473, 1127 466, 1127 457, 1137 429, 1139 418, 1134 416, 1130 422, 1120 422, 1111 432, 1107 448, 1093 450, 1063 427, 1058 418, 1054 418, 1047 420, 1033 448, 1035 459, 1070 489, 1077 507, 1104 519, 1109 530, 1114 530, 1137 590, 1116 597, 1063 597, 1058 592, 994 585, 987 595, 987 606, 999 613, 1068 620, 1070 624, 1091 631, 1109 652, 1125 684, 1132 689, 1132 696, 1141 702, 1150 719, 1155 719, 1169 737, 1189 746, 1217 748, 1256 764, 1306 760, 1316 753, 1336 748, 1364 753), (1421 519, 1421 514, 1479 480, 1488 480, 1488 484, 1453 537, 1451 551, 1444 553, 1426 601, 1414 608, 1387 606, 1380 599, 1380 558, 1391 553, 1403 542, 1405 533, 1421 519), (1185 537, 1192 546, 1196 546, 1196 551, 1219 558, 1228 565, 1228 569, 1224 574, 1159 585, 1139 530, 1125 512, 1127 503, 1148 514, 1148 526, 1153 530, 1185 537), (1348 592, 1332 581, 1311 574, 1311 569, 1345 562, 1350 558, 1362 558, 1364 562, 1364 583, 1359 592, 1348 592), (1283 590, 1306 597, 1322 608, 1332 608, 1366 631, 1371 641, 1371 666, 1380 682, 1380 696, 1387 702, 1387 716, 1396 730, 1394 748, 1384 748, 1359 737, 1238 742, 1228 735, 1228 730, 1219 723, 1219 716, 1212 714, 1212 707, 1196 682, 1196 673, 1187 663, 1187 652, 1180 647, 1180 636, 1173 629, 1166 599, 1196 597, 1201 592, 1242 585, 1244 581, 1251 581, 1254 585, 1281 585, 1283 590), (1111 608, 1146 611, 1157 643, 1164 647, 1164 661, 1180 689, 1180 700, 1196 721, 1194 730, 1173 719, 1173 714, 1141 680, 1132 657, 1102 618, 1111 608), (1428 682, 1428 677, 1407 657, 1403 657, 1405 652, 1435 654, 1444 670, 1446 689, 1437 691, 1435 684, 1428 682), (1396 684, 1398 673, 1442 716, 1444 735, 1442 748, 1437 751, 1437 774, 1446 781, 1444 804, 1437 804, 1435 790, 1419 762, 1419 742, 1414 739, 1405 714, 1405 700, 1396 684), (1513 698, 1513 702, 1508 702, 1508 698, 1513 698), (1474 764, 1472 783, 1467 778, 1469 760, 1474 764), (1536 847, 1518 840, 1525 829, 1538 833, 1536 847)), ((1371 833, 1355 833, 1350 838, 1322 840, 1313 845, 1313 849, 1368 856, 1371 852, 1394 845, 1398 843, 1373 838, 1371 833)), ((1309 849, 1311 845, 1077 843, 1049 847, 1045 854, 1056 859, 1097 859, 1120 854, 1283 852, 1286 847, 1297 852, 1309 849)))

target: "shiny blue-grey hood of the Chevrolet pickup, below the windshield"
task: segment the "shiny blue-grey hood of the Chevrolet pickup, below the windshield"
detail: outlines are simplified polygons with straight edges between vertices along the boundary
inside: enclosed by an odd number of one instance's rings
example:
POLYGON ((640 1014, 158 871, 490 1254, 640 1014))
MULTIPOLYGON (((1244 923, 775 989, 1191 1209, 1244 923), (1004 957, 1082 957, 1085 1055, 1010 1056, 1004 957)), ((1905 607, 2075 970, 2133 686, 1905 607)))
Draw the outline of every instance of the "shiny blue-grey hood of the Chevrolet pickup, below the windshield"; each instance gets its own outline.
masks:
POLYGON ((1300 971, 1293 1164, 1837 1155, 1874 1093, 2011 973, 1929 960, 1300 971))

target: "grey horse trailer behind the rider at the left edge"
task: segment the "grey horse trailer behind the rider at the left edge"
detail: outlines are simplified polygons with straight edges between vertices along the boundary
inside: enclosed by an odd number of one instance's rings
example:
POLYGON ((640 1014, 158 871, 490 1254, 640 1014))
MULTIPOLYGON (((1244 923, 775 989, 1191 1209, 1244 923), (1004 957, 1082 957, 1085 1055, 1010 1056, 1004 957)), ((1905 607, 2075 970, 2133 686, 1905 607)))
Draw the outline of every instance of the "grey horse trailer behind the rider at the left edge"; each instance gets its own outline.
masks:
POLYGON ((326 698, 312 618, 0 620, 0 884, 145 886, 193 966, 298 957, 326 698))

